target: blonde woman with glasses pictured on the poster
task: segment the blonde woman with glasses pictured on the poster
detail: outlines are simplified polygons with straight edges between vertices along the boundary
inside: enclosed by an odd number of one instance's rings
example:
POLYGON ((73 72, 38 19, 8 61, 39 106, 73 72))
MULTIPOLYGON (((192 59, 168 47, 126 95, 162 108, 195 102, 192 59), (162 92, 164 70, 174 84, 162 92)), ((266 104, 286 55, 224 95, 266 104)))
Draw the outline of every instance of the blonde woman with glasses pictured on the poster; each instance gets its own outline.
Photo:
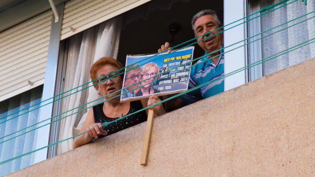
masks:
POLYGON ((143 65, 140 74, 140 90, 135 96, 158 93, 159 91, 153 88, 153 82, 159 74, 159 67, 157 64, 150 62, 143 65))

